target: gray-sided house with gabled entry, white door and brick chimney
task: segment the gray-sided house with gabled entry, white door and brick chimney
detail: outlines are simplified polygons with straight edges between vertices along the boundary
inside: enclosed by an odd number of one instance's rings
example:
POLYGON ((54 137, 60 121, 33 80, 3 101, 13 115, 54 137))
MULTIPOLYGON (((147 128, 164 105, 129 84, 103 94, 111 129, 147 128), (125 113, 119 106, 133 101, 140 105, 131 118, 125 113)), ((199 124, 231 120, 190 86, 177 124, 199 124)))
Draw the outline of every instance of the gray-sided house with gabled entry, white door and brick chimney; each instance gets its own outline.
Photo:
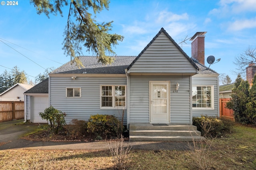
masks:
POLYGON ((39 120, 32 119, 44 109, 37 97, 45 98, 44 107, 65 112, 67 123, 97 113, 120 118, 123 109, 125 125, 192 124, 193 116, 219 116, 219 74, 204 66, 205 33, 191 39, 193 59, 162 28, 137 57, 116 56, 112 65, 102 65, 96 57, 81 56, 81 69, 68 62, 24 93, 30 98, 26 120, 39 120), (42 93, 42 86, 48 91, 42 93))

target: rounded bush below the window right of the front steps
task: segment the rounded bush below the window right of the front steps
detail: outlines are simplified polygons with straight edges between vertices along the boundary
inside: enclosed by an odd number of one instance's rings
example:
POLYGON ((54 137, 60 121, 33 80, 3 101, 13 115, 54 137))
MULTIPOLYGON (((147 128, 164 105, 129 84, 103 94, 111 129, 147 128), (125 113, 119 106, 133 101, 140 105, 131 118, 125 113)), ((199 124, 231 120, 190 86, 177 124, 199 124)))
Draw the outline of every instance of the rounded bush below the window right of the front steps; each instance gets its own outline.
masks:
POLYGON ((202 115, 201 117, 193 117, 193 125, 197 127, 197 130, 202 133, 203 137, 216 138, 220 137, 223 133, 229 132, 232 123, 218 117, 202 115))

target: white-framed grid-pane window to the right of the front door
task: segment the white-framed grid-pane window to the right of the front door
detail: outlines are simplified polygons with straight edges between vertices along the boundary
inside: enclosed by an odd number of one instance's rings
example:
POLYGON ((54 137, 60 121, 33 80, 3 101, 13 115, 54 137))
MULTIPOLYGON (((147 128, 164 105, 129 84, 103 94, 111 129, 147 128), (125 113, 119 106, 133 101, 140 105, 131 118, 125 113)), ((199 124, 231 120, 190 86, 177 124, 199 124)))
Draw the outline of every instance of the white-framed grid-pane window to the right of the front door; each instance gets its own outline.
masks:
POLYGON ((192 107, 202 109, 214 108, 213 86, 192 86, 192 107))

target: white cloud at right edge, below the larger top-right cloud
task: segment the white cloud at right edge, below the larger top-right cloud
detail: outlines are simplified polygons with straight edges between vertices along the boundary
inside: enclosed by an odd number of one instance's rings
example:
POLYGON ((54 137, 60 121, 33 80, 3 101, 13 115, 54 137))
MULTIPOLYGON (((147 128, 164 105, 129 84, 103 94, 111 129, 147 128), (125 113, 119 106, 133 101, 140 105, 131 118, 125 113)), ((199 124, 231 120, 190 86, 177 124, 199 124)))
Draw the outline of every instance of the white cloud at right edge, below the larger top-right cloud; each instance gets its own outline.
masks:
POLYGON ((248 20, 236 20, 233 23, 230 23, 228 26, 228 31, 240 31, 246 28, 255 28, 256 27, 256 18, 248 20))

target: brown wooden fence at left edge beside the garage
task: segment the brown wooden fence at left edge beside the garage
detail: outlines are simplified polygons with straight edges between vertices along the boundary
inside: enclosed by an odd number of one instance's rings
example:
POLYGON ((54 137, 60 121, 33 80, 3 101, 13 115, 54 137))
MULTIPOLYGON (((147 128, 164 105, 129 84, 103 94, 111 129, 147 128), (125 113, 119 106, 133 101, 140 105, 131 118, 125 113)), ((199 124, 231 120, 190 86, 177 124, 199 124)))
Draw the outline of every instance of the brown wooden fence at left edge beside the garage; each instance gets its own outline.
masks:
POLYGON ((0 102, 0 122, 24 119, 24 102, 0 102))

